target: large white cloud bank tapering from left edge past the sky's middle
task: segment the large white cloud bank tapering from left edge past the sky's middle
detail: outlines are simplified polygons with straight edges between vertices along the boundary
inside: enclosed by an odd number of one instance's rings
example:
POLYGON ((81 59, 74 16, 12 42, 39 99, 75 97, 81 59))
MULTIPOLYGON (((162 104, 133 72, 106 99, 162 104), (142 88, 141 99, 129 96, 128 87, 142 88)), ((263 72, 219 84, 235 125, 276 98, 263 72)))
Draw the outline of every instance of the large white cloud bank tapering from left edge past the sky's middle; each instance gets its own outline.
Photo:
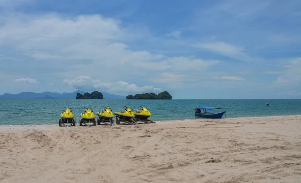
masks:
MULTIPOLYGON (((189 72, 201 69, 204 72, 208 66, 219 62, 181 56, 167 58, 145 50, 133 51, 126 42, 135 41, 136 35, 141 34, 136 29, 122 27, 115 19, 99 15, 63 17, 47 14, 35 17, 16 14, 8 16, 6 24, 0 27, 0 45, 15 46, 18 52, 51 67, 67 64, 60 77, 76 77, 76 70, 94 73, 90 75, 93 77, 97 77, 96 73, 98 77, 110 74, 110 78, 116 81, 123 72, 132 77, 138 73, 158 75, 162 70, 189 72), (99 72, 100 68, 102 72, 99 72), (114 75, 110 72, 112 69, 114 75)), ((173 35, 179 36, 180 33, 174 32, 173 35)))

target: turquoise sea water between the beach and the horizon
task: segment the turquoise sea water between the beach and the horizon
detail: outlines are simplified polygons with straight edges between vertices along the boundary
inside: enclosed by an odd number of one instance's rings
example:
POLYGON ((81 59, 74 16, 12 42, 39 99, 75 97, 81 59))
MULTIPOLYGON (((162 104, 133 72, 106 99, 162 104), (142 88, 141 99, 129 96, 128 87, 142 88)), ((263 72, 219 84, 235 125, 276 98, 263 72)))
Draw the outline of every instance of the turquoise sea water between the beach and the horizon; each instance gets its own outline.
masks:
POLYGON ((78 123, 84 107, 96 115, 103 106, 118 112, 124 105, 148 108, 155 121, 196 119, 199 105, 222 108, 227 111, 223 118, 301 114, 301 100, 0 100, 0 125, 58 124, 63 107, 72 108, 78 123))

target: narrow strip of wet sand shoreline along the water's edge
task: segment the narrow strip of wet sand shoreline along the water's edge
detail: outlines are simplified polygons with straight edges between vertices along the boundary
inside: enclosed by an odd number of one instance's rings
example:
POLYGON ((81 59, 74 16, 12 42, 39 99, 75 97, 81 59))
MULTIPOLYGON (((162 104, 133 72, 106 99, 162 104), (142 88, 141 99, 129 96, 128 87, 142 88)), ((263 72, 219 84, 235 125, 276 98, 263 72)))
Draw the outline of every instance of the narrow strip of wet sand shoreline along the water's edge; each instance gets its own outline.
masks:
MULTIPOLYGON (((253 118, 253 119, 258 119, 258 118, 283 118, 283 117, 301 117, 301 114, 298 115, 276 115, 276 116, 246 116, 246 117, 233 117, 233 118, 222 118, 222 119, 210 119, 210 118, 196 118, 196 119, 176 119, 176 120, 162 120, 162 121, 156 121, 156 124, 160 123, 173 123, 173 122, 182 122, 182 121, 208 121, 208 120, 216 120, 216 121, 223 121, 223 120, 233 120, 233 119, 245 119, 245 118, 253 118)), ((137 124, 140 125, 141 123, 137 124)), ((143 124, 143 123, 142 123, 143 124)), ((10 129, 12 127, 23 127, 23 128, 28 128, 28 127, 35 127, 35 126, 46 126, 46 127, 60 127, 58 124, 9 124, 9 125, 0 125, 0 130, 5 129, 10 129)), ((79 123, 76 122, 76 126, 79 126, 79 123)), ((98 125, 96 125, 98 126, 98 125)), ((103 125, 101 125, 103 126, 103 125)), ((118 126, 115 121, 114 121, 114 126, 118 126)), ((64 127, 64 126, 61 126, 64 127)), ((70 126, 71 128, 74 126, 70 126)))

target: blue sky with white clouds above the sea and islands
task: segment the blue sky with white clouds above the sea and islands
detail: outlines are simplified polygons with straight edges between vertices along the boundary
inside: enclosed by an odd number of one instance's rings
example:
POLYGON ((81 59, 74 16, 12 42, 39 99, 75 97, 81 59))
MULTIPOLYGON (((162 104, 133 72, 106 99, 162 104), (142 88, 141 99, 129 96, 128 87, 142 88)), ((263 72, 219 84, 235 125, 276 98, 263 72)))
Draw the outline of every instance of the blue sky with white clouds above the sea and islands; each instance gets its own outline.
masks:
POLYGON ((301 1, 0 0, 0 95, 301 99, 301 1))

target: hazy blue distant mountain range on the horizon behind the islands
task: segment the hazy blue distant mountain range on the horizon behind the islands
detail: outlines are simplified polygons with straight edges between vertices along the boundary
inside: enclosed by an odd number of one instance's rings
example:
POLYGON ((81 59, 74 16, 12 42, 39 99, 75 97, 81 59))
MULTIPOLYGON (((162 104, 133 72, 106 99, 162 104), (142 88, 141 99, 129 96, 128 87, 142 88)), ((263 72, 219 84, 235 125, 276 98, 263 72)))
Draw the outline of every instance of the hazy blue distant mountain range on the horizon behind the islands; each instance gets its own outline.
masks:
MULTIPOLYGON (((18 94, 5 93, 0 95, 0 99, 75 99, 77 93, 87 93, 85 91, 77 90, 72 93, 52 93, 52 92, 43 92, 43 93, 34 93, 34 92, 22 92, 18 94)), ((110 93, 101 92, 104 99, 126 99, 125 96, 114 95, 110 93)))

